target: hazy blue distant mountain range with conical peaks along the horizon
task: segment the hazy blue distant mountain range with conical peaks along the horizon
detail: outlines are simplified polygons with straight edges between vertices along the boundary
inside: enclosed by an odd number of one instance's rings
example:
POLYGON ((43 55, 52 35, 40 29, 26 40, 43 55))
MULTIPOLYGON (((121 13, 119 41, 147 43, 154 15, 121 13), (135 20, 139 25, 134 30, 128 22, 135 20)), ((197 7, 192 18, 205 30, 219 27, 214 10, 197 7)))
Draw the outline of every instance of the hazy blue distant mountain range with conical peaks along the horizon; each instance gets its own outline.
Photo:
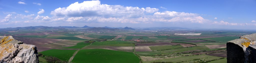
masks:
POLYGON ((2 29, 47 29, 47 28, 54 28, 54 29, 89 29, 89 30, 174 30, 174 29, 189 29, 189 28, 182 28, 182 27, 147 27, 147 28, 131 28, 131 27, 76 27, 76 26, 58 26, 58 27, 48 27, 48 26, 28 26, 28 27, 16 27, 16 28, 2 28, 2 29))

